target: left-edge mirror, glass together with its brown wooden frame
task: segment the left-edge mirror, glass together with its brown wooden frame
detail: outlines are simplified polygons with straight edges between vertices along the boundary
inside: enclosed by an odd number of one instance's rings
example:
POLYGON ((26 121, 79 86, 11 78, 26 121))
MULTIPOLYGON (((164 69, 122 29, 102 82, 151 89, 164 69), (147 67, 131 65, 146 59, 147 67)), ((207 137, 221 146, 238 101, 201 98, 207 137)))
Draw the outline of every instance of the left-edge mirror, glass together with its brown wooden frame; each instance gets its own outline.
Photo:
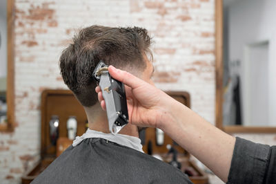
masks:
POLYGON ((0 131, 13 131, 14 0, 0 1, 0 131))

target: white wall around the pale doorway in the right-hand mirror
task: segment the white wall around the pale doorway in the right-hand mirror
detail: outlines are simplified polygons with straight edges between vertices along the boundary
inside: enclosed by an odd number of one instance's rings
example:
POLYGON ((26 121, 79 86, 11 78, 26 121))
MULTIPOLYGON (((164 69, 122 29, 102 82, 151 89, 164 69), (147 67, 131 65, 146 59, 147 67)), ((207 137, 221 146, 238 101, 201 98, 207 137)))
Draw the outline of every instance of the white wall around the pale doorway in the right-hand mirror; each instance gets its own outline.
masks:
MULTIPOLYGON (((243 0, 236 1, 229 7, 229 57, 230 61, 242 62, 241 77, 242 90, 244 86, 244 50, 250 44, 268 42, 268 122, 276 125, 276 1, 275 0, 243 0), (273 95, 274 94, 274 95, 273 95)), ((257 87, 257 86, 256 86, 257 87)), ((242 98, 246 99, 248 93, 244 90, 242 98)), ((244 101, 243 101, 244 103, 244 101)), ((247 114, 246 111, 243 113, 247 114)))

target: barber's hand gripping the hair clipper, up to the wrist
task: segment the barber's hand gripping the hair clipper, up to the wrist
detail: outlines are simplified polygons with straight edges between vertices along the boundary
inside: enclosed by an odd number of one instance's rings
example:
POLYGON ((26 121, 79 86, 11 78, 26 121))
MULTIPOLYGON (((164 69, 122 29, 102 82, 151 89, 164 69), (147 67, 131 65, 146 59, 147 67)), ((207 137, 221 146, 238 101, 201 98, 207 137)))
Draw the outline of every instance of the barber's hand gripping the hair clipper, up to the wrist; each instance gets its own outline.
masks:
MULTIPOLYGON (((172 98, 126 71, 121 71, 114 66, 109 66, 108 71, 113 78, 125 84, 130 123, 139 127, 161 127, 162 116, 166 116, 168 102, 172 98)), ((106 110, 106 103, 99 86, 96 92, 101 108, 106 110)))

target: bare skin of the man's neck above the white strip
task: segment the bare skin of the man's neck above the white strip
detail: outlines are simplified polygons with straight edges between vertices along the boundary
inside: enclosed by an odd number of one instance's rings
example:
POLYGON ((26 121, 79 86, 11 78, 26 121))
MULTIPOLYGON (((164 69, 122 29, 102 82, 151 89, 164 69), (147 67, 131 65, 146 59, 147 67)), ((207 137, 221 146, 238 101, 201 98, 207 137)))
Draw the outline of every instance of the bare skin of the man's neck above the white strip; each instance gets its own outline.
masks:
MULTIPOLYGON (((85 108, 86 109, 86 108, 85 108)), ((86 109, 86 115, 88 117, 88 128, 101 131, 103 133, 109 134, 108 118, 105 111, 91 111, 91 109, 86 109), (95 113, 96 112, 96 113, 95 113)), ((119 134, 125 134, 128 136, 139 137, 137 126, 135 125, 126 125, 119 134)))

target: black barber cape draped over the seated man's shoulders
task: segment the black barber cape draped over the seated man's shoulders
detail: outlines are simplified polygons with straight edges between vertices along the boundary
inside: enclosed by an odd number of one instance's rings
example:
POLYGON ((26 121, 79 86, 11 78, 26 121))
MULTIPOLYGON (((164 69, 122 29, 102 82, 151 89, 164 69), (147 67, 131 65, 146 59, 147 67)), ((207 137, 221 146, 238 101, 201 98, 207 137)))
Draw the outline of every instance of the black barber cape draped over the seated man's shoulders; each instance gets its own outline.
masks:
POLYGON ((32 183, 192 183, 186 174, 103 138, 68 147, 32 183))

